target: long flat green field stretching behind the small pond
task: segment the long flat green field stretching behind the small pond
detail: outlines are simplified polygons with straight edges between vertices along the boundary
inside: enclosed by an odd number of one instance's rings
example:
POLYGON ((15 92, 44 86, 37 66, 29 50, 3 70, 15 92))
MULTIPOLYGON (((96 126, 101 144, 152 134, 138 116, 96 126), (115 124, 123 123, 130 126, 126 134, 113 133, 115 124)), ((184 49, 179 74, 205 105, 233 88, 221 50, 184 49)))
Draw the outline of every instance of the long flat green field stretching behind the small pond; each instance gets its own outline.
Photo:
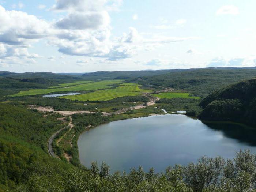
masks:
POLYGON ((24 95, 37 95, 37 94, 48 94, 54 92, 64 91, 88 91, 109 88, 112 84, 121 83, 123 80, 106 80, 92 83, 77 84, 69 87, 49 88, 49 89, 31 89, 28 91, 20 91, 17 94, 11 96, 24 96, 24 95))

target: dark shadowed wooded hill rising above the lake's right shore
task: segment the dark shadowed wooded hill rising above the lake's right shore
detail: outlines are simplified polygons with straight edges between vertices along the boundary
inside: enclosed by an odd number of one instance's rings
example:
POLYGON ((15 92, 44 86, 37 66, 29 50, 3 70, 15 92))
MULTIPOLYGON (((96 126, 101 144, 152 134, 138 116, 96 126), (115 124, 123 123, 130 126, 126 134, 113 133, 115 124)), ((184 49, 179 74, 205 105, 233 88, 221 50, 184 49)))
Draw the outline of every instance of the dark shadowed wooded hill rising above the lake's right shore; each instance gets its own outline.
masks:
POLYGON ((235 121, 256 125, 256 79, 215 91, 204 98, 202 120, 235 121))

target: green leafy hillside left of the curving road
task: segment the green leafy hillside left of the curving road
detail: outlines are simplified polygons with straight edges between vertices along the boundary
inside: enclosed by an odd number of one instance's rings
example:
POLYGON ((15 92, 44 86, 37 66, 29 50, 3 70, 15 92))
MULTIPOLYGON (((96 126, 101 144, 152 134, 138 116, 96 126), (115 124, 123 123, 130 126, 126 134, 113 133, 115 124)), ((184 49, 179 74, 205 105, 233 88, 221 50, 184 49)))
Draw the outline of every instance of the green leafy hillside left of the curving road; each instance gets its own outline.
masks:
POLYGON ((57 163, 46 152, 47 140, 57 129, 59 121, 50 116, 0 103, 0 188, 14 189, 26 182, 35 163, 50 165, 52 170, 69 166, 57 163))

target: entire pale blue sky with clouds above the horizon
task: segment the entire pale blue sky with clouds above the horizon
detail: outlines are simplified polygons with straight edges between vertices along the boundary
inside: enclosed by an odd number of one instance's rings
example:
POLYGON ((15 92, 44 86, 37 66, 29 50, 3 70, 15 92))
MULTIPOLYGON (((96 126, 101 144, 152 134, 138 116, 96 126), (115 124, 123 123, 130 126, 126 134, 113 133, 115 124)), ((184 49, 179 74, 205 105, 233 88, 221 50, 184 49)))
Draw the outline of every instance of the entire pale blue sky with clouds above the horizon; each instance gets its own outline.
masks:
POLYGON ((255 0, 0 0, 0 71, 256 65, 255 0))

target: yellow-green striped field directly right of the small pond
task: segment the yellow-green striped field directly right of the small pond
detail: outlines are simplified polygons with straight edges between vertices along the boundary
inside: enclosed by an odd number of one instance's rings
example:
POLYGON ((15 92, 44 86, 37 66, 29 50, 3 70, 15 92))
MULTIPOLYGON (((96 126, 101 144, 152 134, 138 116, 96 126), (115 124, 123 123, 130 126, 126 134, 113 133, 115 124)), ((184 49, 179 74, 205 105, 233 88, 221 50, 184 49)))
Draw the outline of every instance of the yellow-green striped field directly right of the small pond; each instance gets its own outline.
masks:
POLYGON ((85 93, 80 95, 67 95, 60 98, 80 101, 106 101, 116 97, 143 95, 143 93, 148 91, 149 90, 140 89, 138 84, 125 83, 125 85, 122 84, 115 89, 98 90, 92 93, 85 93))

